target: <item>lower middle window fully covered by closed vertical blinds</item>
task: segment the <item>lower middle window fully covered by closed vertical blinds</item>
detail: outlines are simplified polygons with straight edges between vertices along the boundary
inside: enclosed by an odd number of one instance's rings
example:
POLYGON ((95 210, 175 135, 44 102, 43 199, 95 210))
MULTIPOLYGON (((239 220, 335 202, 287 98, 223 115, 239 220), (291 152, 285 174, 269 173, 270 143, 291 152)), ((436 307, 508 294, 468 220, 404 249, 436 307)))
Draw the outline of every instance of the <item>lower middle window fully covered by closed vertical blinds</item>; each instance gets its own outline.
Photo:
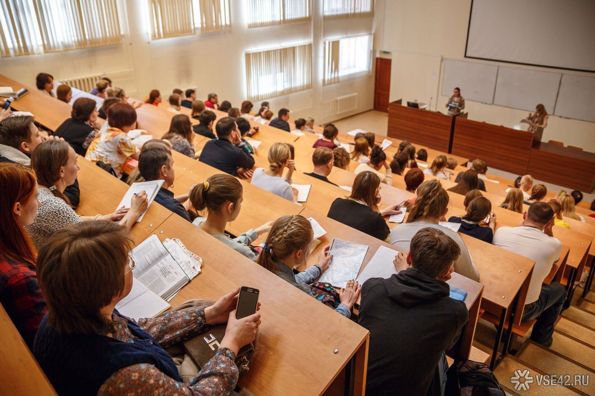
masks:
POLYGON ((312 43, 246 52, 246 82, 249 100, 312 88, 312 43))

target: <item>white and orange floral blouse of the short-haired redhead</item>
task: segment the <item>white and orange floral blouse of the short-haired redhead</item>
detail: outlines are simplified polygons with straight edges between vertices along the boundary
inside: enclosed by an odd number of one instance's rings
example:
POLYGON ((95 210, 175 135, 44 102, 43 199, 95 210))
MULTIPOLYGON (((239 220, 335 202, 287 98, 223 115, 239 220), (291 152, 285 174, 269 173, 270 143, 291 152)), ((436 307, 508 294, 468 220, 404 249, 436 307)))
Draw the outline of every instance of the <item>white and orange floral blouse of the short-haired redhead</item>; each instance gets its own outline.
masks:
POLYGON ((126 160, 134 153, 136 153, 136 146, 124 131, 118 128, 107 128, 105 131, 100 130, 95 136, 84 158, 92 162, 104 162, 114 168, 120 177, 126 160))

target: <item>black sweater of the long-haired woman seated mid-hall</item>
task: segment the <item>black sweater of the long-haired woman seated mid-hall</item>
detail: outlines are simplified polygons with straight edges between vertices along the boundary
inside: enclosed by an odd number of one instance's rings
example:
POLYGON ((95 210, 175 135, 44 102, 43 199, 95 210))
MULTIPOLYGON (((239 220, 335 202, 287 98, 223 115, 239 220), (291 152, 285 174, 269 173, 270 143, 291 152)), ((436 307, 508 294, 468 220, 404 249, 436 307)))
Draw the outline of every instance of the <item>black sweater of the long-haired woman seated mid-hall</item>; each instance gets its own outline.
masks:
POLYGON ((380 240, 385 240, 390 234, 389 226, 380 213, 351 199, 334 200, 331 208, 328 209, 327 217, 380 240))

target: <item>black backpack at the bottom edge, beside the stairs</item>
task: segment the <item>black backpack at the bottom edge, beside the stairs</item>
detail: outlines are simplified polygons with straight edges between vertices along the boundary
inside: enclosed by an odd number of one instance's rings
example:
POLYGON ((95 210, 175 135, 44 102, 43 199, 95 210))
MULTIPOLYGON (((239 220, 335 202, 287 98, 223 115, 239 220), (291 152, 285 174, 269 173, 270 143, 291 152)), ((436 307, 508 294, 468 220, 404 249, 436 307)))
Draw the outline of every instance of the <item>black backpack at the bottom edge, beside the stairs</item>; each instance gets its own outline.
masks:
POLYGON ((472 360, 458 362, 451 367, 447 389, 451 392, 446 394, 459 396, 506 396, 488 366, 472 360))

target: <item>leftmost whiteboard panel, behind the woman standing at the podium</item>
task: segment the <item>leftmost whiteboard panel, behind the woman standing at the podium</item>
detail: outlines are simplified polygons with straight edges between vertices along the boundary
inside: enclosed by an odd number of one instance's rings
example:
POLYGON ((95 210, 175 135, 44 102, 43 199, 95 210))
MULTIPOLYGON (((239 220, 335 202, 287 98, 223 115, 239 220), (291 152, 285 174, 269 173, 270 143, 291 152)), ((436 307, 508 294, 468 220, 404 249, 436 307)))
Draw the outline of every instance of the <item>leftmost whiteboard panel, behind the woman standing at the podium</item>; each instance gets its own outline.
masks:
POLYGON ((442 95, 450 97, 452 90, 459 87, 465 100, 492 103, 497 73, 496 65, 446 59, 442 95))

